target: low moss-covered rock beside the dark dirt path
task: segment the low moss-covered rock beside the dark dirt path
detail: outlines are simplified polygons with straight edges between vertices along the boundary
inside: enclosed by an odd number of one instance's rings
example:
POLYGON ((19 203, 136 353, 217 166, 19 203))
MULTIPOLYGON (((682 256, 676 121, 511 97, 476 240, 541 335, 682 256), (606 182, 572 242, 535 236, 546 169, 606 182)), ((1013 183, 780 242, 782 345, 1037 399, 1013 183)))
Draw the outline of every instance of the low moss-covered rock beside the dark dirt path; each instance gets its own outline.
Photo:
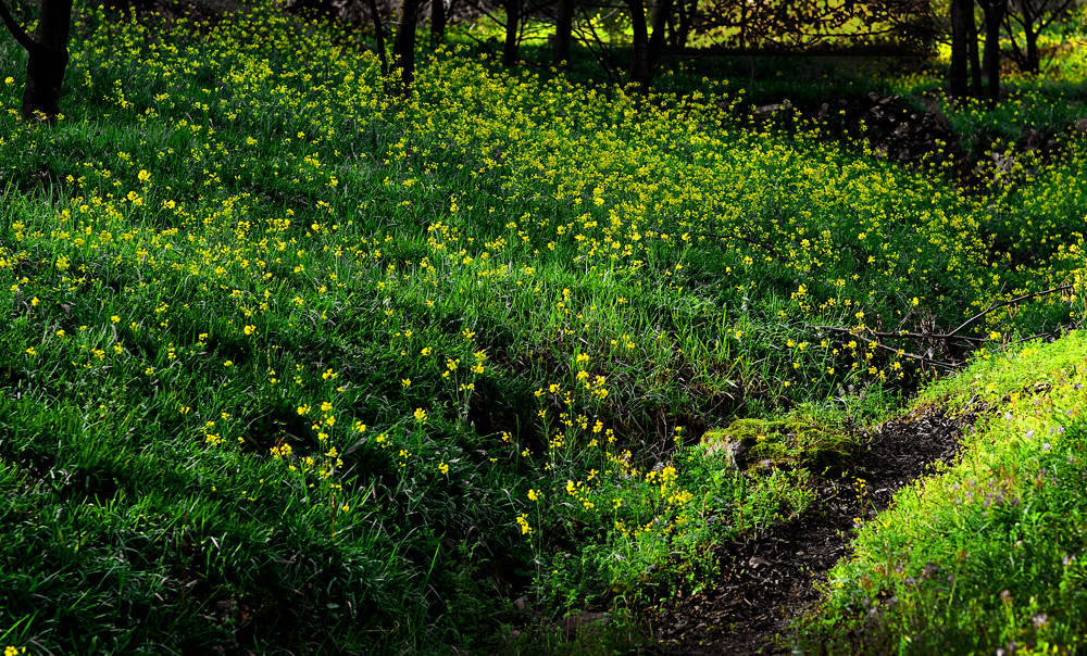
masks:
POLYGON ((848 457, 853 444, 844 432, 799 419, 737 419, 702 436, 708 455, 723 452, 737 469, 828 467, 848 457))

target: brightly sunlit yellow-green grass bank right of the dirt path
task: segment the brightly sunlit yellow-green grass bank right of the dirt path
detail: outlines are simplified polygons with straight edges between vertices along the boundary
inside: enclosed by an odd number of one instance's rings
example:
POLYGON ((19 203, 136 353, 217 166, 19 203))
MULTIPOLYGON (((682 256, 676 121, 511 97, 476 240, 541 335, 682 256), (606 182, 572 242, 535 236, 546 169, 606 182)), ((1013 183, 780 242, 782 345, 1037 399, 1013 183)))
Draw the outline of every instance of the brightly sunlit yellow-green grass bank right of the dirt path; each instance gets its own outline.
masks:
POLYGON ((980 407, 963 453, 860 530, 809 620, 829 653, 1075 652, 1087 632, 1087 341, 979 362, 921 405, 980 407))

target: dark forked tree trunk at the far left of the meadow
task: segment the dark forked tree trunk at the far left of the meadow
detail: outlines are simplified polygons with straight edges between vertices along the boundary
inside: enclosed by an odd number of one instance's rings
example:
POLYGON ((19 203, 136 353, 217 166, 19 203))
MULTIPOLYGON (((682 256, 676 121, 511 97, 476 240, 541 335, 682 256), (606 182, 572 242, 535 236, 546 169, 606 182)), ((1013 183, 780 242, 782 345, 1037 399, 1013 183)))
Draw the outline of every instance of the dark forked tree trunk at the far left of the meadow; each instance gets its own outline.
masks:
POLYGON ((4 0, 0 0, 0 20, 27 53, 23 116, 55 121, 61 112, 61 84, 68 63, 72 0, 41 0, 34 37, 18 24, 4 0))

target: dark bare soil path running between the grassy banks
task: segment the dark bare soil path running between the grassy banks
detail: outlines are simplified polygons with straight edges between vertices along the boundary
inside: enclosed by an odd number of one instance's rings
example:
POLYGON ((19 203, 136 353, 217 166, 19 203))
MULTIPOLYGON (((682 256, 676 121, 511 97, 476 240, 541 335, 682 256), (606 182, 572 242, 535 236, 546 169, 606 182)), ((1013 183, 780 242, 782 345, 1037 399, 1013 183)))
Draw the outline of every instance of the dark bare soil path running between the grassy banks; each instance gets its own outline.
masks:
POLYGON ((895 492, 949 462, 973 416, 928 408, 871 433, 867 451, 840 477, 825 480, 819 500, 799 518, 720 547, 712 590, 651 613, 665 653, 788 653, 789 622, 820 598, 817 585, 848 554, 855 519, 871 519, 895 492), (863 479, 862 485, 858 479, 863 479))

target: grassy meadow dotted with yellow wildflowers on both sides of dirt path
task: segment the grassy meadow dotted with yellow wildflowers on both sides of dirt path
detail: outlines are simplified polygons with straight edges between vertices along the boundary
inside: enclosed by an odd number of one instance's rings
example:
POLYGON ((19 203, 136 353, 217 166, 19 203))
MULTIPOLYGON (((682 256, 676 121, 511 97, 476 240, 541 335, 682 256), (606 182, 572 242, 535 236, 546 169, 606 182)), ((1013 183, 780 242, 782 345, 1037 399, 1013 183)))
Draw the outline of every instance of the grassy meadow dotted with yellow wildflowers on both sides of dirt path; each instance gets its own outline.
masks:
MULTIPOLYGON (((605 609, 626 623, 591 648, 628 648, 651 640, 639 609, 711 585, 715 545, 803 513, 827 476, 803 450, 737 471, 708 430, 776 418, 860 450, 945 363, 976 368, 926 393, 964 400, 998 363, 1040 370, 1013 342, 1083 318, 1079 138, 964 190, 950 160, 757 125, 722 81, 645 97, 443 46, 403 99, 358 34, 267 7, 77 14, 54 127, 18 117, 25 59, 0 39, 0 645, 564 652, 557 620, 605 609), (927 354, 897 335, 960 326, 927 354)), ((1000 520, 1038 500, 1050 546, 1079 521, 1060 504, 1082 420, 1041 453, 1014 437, 1082 407, 1083 337, 1030 349, 1058 344, 1072 373, 1036 414, 987 420, 990 459, 932 483, 1013 463, 1024 503, 1000 520)), ((997 407, 1020 383, 994 380, 997 407)), ((854 630, 905 585, 873 563, 953 560, 896 555, 928 489, 862 530, 805 631, 854 630)), ((1057 572, 1050 546, 1032 563, 1057 572)), ((1060 590, 1082 605, 1076 572, 1060 590)), ((1016 600, 1064 603, 1015 576, 1016 600)), ((1008 609, 999 592, 955 626, 1008 609)), ((915 605, 879 635, 951 607, 897 594, 915 605)))

